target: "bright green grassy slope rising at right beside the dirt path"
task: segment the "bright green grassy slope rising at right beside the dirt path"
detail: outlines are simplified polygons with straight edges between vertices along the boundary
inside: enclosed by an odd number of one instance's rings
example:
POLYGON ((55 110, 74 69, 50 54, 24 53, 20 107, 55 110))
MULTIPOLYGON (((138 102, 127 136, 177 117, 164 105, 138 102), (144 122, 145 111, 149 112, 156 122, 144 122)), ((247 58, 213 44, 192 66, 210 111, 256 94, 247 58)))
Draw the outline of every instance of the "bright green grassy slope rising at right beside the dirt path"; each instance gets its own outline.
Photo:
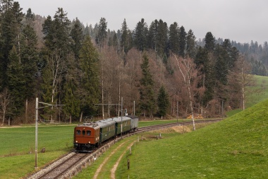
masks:
POLYGON ((128 175, 130 178, 267 178, 267 106, 265 100, 195 132, 141 142, 130 156, 130 171, 121 169, 118 175, 123 178, 128 175))

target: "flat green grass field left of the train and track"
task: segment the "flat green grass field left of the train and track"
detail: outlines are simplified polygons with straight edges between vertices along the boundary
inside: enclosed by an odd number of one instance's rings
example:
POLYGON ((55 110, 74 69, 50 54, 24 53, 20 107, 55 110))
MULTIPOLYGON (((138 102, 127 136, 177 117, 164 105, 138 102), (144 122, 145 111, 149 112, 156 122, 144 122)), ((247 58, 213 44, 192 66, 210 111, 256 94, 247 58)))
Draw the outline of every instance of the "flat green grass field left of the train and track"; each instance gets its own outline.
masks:
MULTIPOLYGON (((37 166, 73 148, 73 126, 38 127, 37 166)), ((35 127, 0 128, 0 178, 21 178, 35 171, 35 127)))

